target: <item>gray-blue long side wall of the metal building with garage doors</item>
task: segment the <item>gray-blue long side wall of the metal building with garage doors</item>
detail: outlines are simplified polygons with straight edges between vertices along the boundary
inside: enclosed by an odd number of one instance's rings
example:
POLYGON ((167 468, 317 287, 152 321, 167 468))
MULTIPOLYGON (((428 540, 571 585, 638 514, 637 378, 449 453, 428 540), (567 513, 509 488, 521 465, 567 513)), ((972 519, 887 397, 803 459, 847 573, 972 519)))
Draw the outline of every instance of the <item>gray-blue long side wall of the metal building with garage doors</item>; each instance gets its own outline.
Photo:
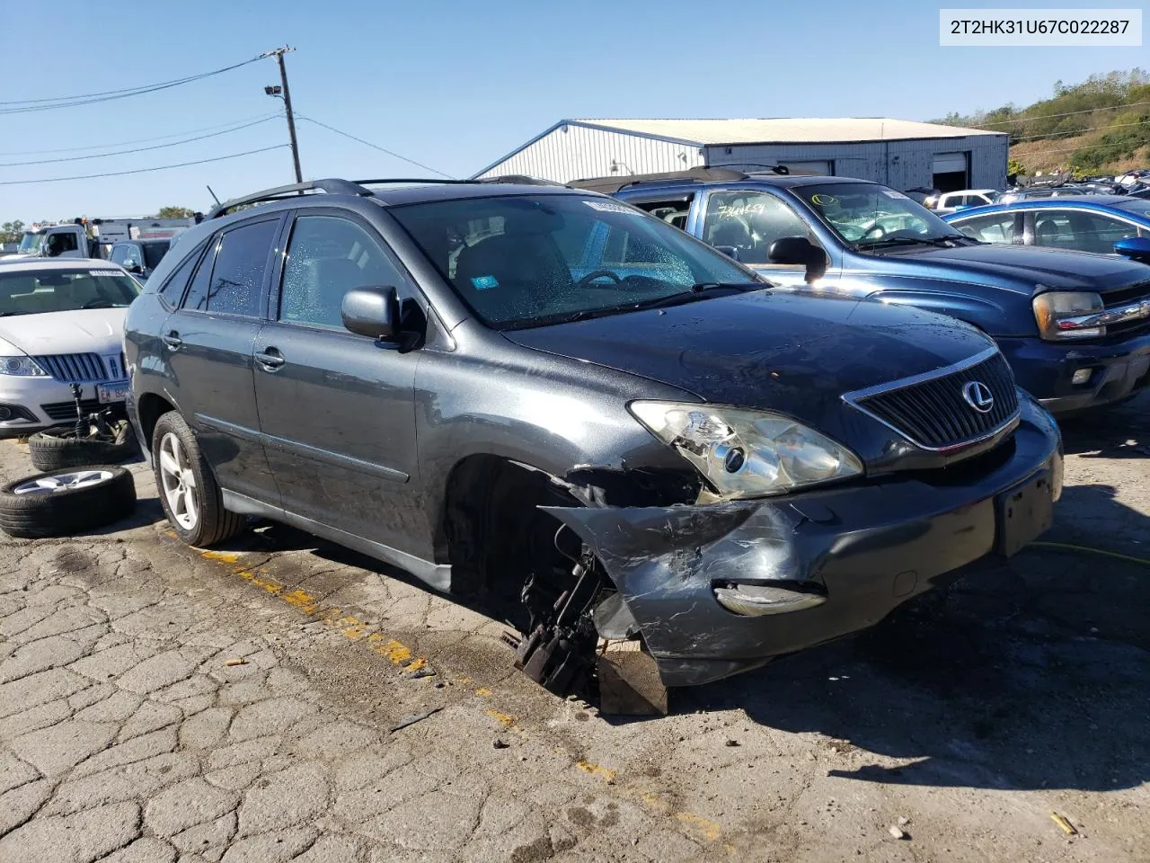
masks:
POLYGON ((930 186, 936 153, 969 153, 971 188, 1002 189, 1006 185, 1006 142, 1005 135, 975 135, 858 144, 744 144, 707 147, 706 159, 712 167, 752 169, 754 165, 830 160, 836 176, 915 189, 930 186))

